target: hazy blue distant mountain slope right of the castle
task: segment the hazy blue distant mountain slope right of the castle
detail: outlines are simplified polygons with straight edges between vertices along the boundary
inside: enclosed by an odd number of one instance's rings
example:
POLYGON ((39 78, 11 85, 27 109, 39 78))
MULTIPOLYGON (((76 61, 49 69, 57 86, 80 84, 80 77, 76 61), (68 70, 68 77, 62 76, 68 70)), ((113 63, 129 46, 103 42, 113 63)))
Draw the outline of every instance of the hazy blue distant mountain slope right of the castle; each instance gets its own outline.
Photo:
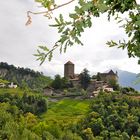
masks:
POLYGON ((136 81, 138 80, 137 76, 138 74, 136 73, 131 73, 128 71, 123 71, 120 69, 114 69, 114 71, 118 72, 118 76, 119 76, 119 84, 122 87, 133 87, 136 90, 140 91, 140 81, 139 84, 135 84, 136 81))

